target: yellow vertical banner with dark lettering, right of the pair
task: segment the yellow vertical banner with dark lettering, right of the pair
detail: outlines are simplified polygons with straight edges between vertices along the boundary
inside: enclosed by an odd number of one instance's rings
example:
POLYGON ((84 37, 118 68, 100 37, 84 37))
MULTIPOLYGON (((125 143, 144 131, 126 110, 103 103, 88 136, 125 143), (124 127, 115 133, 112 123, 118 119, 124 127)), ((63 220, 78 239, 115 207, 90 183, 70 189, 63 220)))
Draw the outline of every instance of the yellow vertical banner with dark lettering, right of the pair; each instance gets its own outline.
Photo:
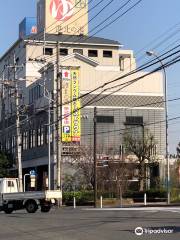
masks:
POLYGON ((81 136, 81 103, 79 98, 79 70, 71 70, 71 96, 72 96, 72 142, 80 142, 81 136), (74 100, 74 101, 73 101, 74 100))

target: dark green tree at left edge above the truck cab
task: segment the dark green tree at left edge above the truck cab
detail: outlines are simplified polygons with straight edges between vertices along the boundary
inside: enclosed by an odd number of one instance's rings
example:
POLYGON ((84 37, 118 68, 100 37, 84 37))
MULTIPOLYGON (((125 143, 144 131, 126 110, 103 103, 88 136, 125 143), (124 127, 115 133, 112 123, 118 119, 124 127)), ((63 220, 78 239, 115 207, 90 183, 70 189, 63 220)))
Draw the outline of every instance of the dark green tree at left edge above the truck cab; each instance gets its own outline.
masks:
POLYGON ((0 178, 10 176, 10 168, 12 167, 12 159, 4 152, 0 152, 0 178))

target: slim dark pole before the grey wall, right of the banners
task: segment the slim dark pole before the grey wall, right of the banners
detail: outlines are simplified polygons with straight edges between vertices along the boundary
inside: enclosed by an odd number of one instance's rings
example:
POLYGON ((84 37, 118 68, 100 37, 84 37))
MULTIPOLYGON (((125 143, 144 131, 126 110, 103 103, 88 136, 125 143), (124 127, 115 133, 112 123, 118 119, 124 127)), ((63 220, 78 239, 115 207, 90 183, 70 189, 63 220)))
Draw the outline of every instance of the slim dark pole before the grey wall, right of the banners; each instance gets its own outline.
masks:
POLYGON ((94 207, 97 207, 97 156, 96 156, 97 108, 94 107, 94 207))

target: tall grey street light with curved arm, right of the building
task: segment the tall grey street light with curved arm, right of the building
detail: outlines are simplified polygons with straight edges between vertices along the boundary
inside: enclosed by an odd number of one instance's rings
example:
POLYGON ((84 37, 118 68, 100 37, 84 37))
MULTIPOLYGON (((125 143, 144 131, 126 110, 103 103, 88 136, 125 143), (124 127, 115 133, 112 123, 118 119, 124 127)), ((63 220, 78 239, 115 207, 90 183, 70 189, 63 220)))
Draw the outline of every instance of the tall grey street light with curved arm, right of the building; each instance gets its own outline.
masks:
POLYGON ((170 181, 170 169, 169 169, 169 146, 168 146, 168 105, 167 105, 167 77, 166 77, 166 69, 159 58, 156 52, 147 51, 146 54, 148 56, 154 56, 158 62, 162 66, 163 75, 164 75, 164 93, 165 93, 165 123, 166 123, 166 161, 167 161, 167 204, 170 204, 170 189, 169 189, 169 181, 170 181))

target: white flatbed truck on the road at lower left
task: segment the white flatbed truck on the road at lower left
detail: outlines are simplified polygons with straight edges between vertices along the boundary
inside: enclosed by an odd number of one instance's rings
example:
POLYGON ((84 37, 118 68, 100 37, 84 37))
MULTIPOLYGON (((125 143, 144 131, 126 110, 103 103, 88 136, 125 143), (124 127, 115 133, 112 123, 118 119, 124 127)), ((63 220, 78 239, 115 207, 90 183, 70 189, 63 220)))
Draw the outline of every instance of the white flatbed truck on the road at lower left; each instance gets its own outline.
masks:
POLYGON ((17 178, 0 178, 0 211, 7 214, 20 209, 35 213, 39 207, 42 212, 49 212, 60 199, 60 190, 20 192, 17 178))

